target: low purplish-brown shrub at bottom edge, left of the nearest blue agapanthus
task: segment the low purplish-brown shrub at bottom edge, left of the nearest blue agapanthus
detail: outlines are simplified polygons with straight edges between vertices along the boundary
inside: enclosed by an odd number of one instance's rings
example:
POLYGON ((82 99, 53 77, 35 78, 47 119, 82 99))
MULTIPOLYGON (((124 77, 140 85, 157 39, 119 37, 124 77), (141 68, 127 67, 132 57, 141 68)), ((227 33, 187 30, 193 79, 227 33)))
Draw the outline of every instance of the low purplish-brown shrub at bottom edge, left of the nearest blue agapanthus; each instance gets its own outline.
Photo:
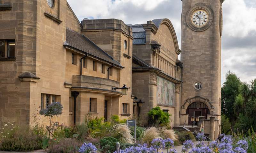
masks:
POLYGON ((48 153, 76 153, 82 145, 81 142, 76 139, 61 139, 59 142, 52 142, 48 149, 48 153))

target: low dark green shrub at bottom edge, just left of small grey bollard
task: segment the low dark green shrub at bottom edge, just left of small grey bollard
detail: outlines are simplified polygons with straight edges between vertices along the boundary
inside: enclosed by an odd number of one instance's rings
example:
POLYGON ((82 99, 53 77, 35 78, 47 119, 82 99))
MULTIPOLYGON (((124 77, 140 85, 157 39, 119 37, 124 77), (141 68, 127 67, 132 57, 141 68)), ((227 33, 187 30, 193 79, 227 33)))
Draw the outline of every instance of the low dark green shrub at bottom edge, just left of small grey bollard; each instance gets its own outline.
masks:
POLYGON ((102 153, 113 153, 116 150, 116 142, 114 137, 105 137, 100 139, 100 150, 102 153))

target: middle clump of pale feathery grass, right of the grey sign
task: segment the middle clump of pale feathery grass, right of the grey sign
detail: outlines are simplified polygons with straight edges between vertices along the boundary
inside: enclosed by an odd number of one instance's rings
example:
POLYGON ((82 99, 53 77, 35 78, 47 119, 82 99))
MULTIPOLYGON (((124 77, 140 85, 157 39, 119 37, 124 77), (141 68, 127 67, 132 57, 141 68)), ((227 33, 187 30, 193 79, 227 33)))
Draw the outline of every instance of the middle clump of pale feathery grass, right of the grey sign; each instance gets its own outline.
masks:
POLYGON ((143 132, 141 141, 143 143, 149 144, 153 139, 156 139, 156 138, 160 138, 159 130, 156 127, 151 127, 151 128, 145 129, 145 131, 143 132))

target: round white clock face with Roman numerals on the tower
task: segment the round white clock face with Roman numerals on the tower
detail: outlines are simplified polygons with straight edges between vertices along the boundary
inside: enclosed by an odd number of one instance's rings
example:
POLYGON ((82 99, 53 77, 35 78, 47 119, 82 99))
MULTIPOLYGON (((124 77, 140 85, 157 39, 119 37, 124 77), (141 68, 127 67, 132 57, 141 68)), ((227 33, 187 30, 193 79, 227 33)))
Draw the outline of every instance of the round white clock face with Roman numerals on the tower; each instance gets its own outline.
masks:
POLYGON ((209 15, 204 10, 196 10, 192 13, 191 22, 196 27, 203 27, 208 23, 209 15))

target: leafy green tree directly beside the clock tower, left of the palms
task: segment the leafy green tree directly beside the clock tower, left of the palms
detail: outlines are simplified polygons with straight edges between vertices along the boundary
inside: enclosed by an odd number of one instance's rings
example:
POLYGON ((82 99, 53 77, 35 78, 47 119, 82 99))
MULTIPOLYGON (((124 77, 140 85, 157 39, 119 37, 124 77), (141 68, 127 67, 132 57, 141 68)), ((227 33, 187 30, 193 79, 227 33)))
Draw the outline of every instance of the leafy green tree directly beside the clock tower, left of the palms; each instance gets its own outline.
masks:
POLYGON ((226 81, 221 87, 221 113, 225 114, 233 124, 236 120, 233 106, 235 98, 239 94, 240 85, 241 81, 236 74, 228 71, 226 81))

